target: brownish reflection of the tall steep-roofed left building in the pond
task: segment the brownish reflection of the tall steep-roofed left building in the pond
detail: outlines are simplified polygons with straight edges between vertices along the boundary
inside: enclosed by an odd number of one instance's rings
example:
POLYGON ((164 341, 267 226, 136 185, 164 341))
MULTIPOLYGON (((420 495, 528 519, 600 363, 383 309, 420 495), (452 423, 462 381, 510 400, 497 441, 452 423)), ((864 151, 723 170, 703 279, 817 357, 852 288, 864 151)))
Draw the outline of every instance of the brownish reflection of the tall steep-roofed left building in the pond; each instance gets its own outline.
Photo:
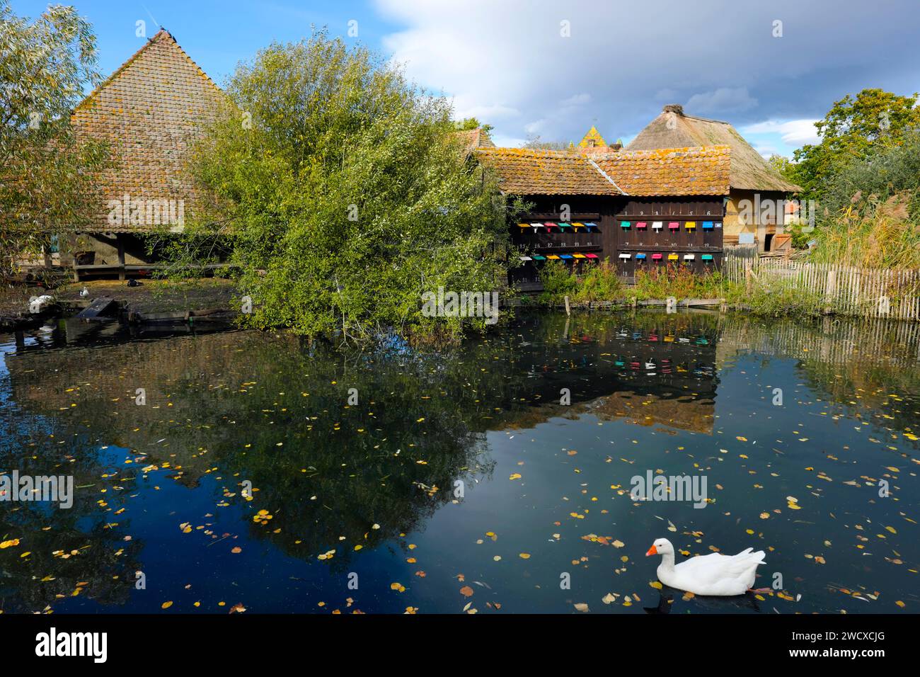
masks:
POLYGON ((37 343, 6 355, 13 400, 29 413, 66 417, 73 425, 91 422, 92 429, 106 431, 104 443, 181 465, 182 482, 194 484, 191 456, 238 432, 200 424, 245 412, 247 403, 229 395, 251 377, 246 356, 259 350, 257 336, 227 332, 138 341, 117 322, 84 326, 98 343, 81 344, 77 327, 62 321, 37 343), (144 405, 135 400, 139 388, 144 405), (174 441, 177 428, 181 444, 174 441))

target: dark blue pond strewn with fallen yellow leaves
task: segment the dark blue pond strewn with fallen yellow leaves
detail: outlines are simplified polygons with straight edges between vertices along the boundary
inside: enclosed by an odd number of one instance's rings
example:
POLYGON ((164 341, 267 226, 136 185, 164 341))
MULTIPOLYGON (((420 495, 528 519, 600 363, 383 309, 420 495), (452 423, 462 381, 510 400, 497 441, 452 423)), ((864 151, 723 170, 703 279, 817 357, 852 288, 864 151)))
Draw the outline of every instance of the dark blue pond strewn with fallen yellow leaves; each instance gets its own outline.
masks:
POLYGON ((916 613, 920 327, 524 315, 443 351, 0 334, 5 613, 916 613), (666 496, 649 477, 689 477, 666 496), (663 499, 661 499, 663 497, 663 499), (661 587, 764 550, 763 590, 661 587))

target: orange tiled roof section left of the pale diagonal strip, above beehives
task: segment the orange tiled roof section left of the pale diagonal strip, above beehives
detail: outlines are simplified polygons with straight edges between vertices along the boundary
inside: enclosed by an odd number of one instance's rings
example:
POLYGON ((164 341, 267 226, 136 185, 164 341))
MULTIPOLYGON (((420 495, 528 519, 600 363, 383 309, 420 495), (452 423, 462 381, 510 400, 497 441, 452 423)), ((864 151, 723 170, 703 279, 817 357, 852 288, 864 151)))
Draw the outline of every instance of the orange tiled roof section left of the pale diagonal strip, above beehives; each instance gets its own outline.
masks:
POLYGON ((614 182, 578 153, 526 148, 477 148, 504 193, 516 195, 620 195, 614 182))

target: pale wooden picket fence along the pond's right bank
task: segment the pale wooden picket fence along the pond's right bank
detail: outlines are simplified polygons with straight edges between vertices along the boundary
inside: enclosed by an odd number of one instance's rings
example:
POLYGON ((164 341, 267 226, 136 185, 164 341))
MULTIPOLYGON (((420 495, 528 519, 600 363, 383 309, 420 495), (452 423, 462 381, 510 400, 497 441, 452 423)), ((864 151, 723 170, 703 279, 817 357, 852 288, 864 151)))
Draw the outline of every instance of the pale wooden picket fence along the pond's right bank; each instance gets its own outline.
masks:
POLYGON ((809 292, 816 309, 828 313, 920 321, 920 270, 810 263, 761 257, 751 247, 726 247, 722 272, 731 282, 809 292))

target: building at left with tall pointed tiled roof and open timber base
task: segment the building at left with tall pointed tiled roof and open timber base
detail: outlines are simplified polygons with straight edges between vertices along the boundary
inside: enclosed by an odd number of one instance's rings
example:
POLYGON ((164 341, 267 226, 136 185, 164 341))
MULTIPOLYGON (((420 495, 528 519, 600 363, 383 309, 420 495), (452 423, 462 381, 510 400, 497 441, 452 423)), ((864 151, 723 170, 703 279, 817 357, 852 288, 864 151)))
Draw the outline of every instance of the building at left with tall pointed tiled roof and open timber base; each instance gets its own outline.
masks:
POLYGON ((75 258, 62 263, 77 275, 123 277, 148 267, 144 234, 181 232, 202 206, 188 170, 191 148, 223 97, 161 29, 76 106, 75 133, 109 142, 112 162, 96 178, 91 225, 74 229, 75 258))

